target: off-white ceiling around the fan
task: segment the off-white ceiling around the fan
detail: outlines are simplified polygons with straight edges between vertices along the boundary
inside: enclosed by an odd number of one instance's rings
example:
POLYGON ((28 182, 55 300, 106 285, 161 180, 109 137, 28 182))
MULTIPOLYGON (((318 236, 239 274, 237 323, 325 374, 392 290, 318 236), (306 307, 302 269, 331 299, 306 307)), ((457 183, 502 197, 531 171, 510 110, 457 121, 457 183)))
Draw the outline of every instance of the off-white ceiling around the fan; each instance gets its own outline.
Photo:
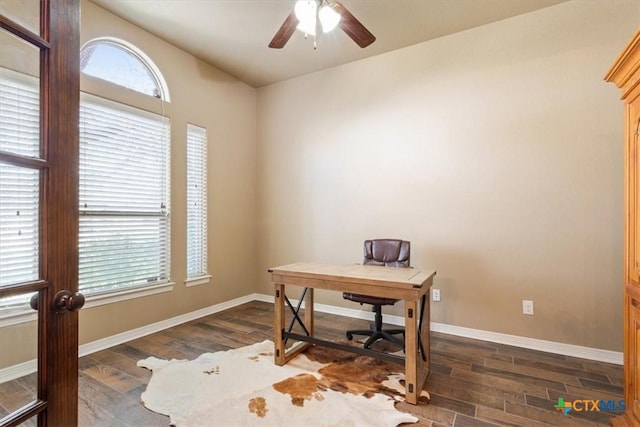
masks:
POLYGON ((91 0, 254 87, 400 49, 567 0, 341 0, 376 36, 359 48, 336 29, 267 47, 295 0, 91 0))

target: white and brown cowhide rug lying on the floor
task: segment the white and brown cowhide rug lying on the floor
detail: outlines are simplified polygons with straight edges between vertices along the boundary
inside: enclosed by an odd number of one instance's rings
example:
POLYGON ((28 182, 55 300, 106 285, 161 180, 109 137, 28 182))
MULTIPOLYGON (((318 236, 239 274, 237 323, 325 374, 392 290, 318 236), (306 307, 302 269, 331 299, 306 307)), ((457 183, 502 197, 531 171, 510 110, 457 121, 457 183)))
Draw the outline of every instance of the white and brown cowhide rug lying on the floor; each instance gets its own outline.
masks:
POLYGON ((191 361, 149 357, 138 366, 153 371, 143 404, 179 427, 418 421, 395 408, 404 398, 400 365, 322 347, 310 347, 285 366, 274 364, 271 341, 191 361))

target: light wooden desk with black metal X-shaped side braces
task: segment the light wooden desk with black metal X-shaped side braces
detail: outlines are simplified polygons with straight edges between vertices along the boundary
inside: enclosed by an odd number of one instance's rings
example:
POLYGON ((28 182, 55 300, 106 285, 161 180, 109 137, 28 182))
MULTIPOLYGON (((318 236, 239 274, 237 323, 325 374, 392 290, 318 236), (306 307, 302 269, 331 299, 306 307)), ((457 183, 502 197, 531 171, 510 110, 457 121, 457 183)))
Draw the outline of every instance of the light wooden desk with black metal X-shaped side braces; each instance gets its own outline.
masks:
MULTIPOLYGON (((435 271, 414 268, 389 268, 370 265, 338 265, 296 263, 269 270, 275 288, 275 363, 284 365, 309 345, 328 347, 365 354, 385 360, 404 362, 408 403, 417 404, 418 396, 429 375, 429 290, 435 271), (299 319, 307 335, 291 333, 285 329, 285 302, 289 304, 287 285, 307 288, 304 296, 304 320, 299 319), (327 289, 355 292, 365 295, 394 298, 405 302, 405 357, 394 356, 362 347, 323 341, 313 336, 313 290, 327 289), (423 327, 422 319, 426 319, 423 327), (289 339, 301 341, 285 348, 289 339)), ((295 308, 289 304, 297 317, 295 308)), ((293 321, 292 321, 293 322, 293 321)))

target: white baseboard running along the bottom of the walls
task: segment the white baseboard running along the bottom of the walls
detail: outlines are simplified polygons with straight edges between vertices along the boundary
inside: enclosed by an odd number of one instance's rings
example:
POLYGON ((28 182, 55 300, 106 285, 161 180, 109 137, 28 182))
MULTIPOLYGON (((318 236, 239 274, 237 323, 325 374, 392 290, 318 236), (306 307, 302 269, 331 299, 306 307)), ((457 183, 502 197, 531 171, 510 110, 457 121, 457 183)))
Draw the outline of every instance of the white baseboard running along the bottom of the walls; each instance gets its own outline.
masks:
MULTIPOLYGON (((180 316, 165 319, 160 322, 152 323, 150 325, 142 326, 140 328, 132 329, 127 332, 112 335, 107 338, 103 338, 97 341, 92 341, 87 344, 82 344, 78 349, 80 357, 95 353, 100 350, 104 350, 125 342, 141 338, 146 335, 159 332, 173 326, 177 326, 191 320, 199 319, 200 317, 208 316, 210 314, 218 313, 223 310, 227 310, 232 307, 250 302, 250 301, 264 301, 273 302, 273 296, 265 294, 249 294, 244 297, 235 298, 230 301, 225 301, 220 304, 215 304, 209 307, 205 307, 200 310, 192 311, 191 313, 182 314, 180 316)), ((291 300, 292 303, 297 303, 296 300, 291 300)), ((304 306, 304 305, 303 305, 304 306)), ((352 308, 337 307, 327 304, 314 304, 314 309, 322 313, 337 314, 340 316, 351 317, 356 319, 373 320, 373 313, 369 311, 356 310, 352 308)), ((392 325, 404 325, 404 318, 401 316, 395 316, 385 314, 385 323, 392 325)), ((602 350, 598 348, 582 347, 572 344, 564 344, 554 341, 545 341, 535 338, 520 337, 517 335, 501 334, 498 332, 482 331, 479 329, 464 328, 461 326, 447 325, 445 323, 431 322, 431 330, 435 332, 442 332, 450 335, 457 335, 467 338, 474 338, 489 342, 495 342, 500 344, 512 345, 515 347, 527 348, 530 350, 545 351, 548 353, 563 354, 565 356, 579 357, 582 359, 596 360, 599 362, 613 363, 616 365, 623 364, 623 354, 617 351, 602 350)), ((31 374, 37 369, 36 360, 29 360, 27 362, 19 363, 9 366, 7 368, 0 369, 0 384, 20 378, 22 376, 31 374)))

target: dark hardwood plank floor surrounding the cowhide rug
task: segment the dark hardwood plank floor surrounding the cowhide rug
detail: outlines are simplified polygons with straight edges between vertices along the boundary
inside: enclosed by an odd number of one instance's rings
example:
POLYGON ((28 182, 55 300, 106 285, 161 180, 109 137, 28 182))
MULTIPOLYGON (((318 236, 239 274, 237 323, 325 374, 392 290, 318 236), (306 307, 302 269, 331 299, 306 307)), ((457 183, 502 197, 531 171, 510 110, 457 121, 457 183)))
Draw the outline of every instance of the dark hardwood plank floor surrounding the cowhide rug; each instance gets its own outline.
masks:
MULTIPOLYGON (((367 322, 317 313, 317 335, 343 339, 367 322)), ((251 302, 80 358, 81 426, 162 426, 168 417, 140 404, 151 373, 136 362, 148 356, 194 359, 202 353, 273 339, 273 306, 251 302)), ((563 415, 554 405, 622 396, 622 367, 507 345, 433 333, 430 404, 398 403, 420 426, 596 426, 612 412, 563 415)), ((35 375, 0 384, 0 418, 20 398, 33 396, 35 375)), ((28 400, 27 400, 28 401, 28 400)), ((23 402, 24 404, 26 402, 23 402)), ((212 425, 215 425, 212 422, 212 425)), ((225 426, 227 427, 227 426, 225 426)))

